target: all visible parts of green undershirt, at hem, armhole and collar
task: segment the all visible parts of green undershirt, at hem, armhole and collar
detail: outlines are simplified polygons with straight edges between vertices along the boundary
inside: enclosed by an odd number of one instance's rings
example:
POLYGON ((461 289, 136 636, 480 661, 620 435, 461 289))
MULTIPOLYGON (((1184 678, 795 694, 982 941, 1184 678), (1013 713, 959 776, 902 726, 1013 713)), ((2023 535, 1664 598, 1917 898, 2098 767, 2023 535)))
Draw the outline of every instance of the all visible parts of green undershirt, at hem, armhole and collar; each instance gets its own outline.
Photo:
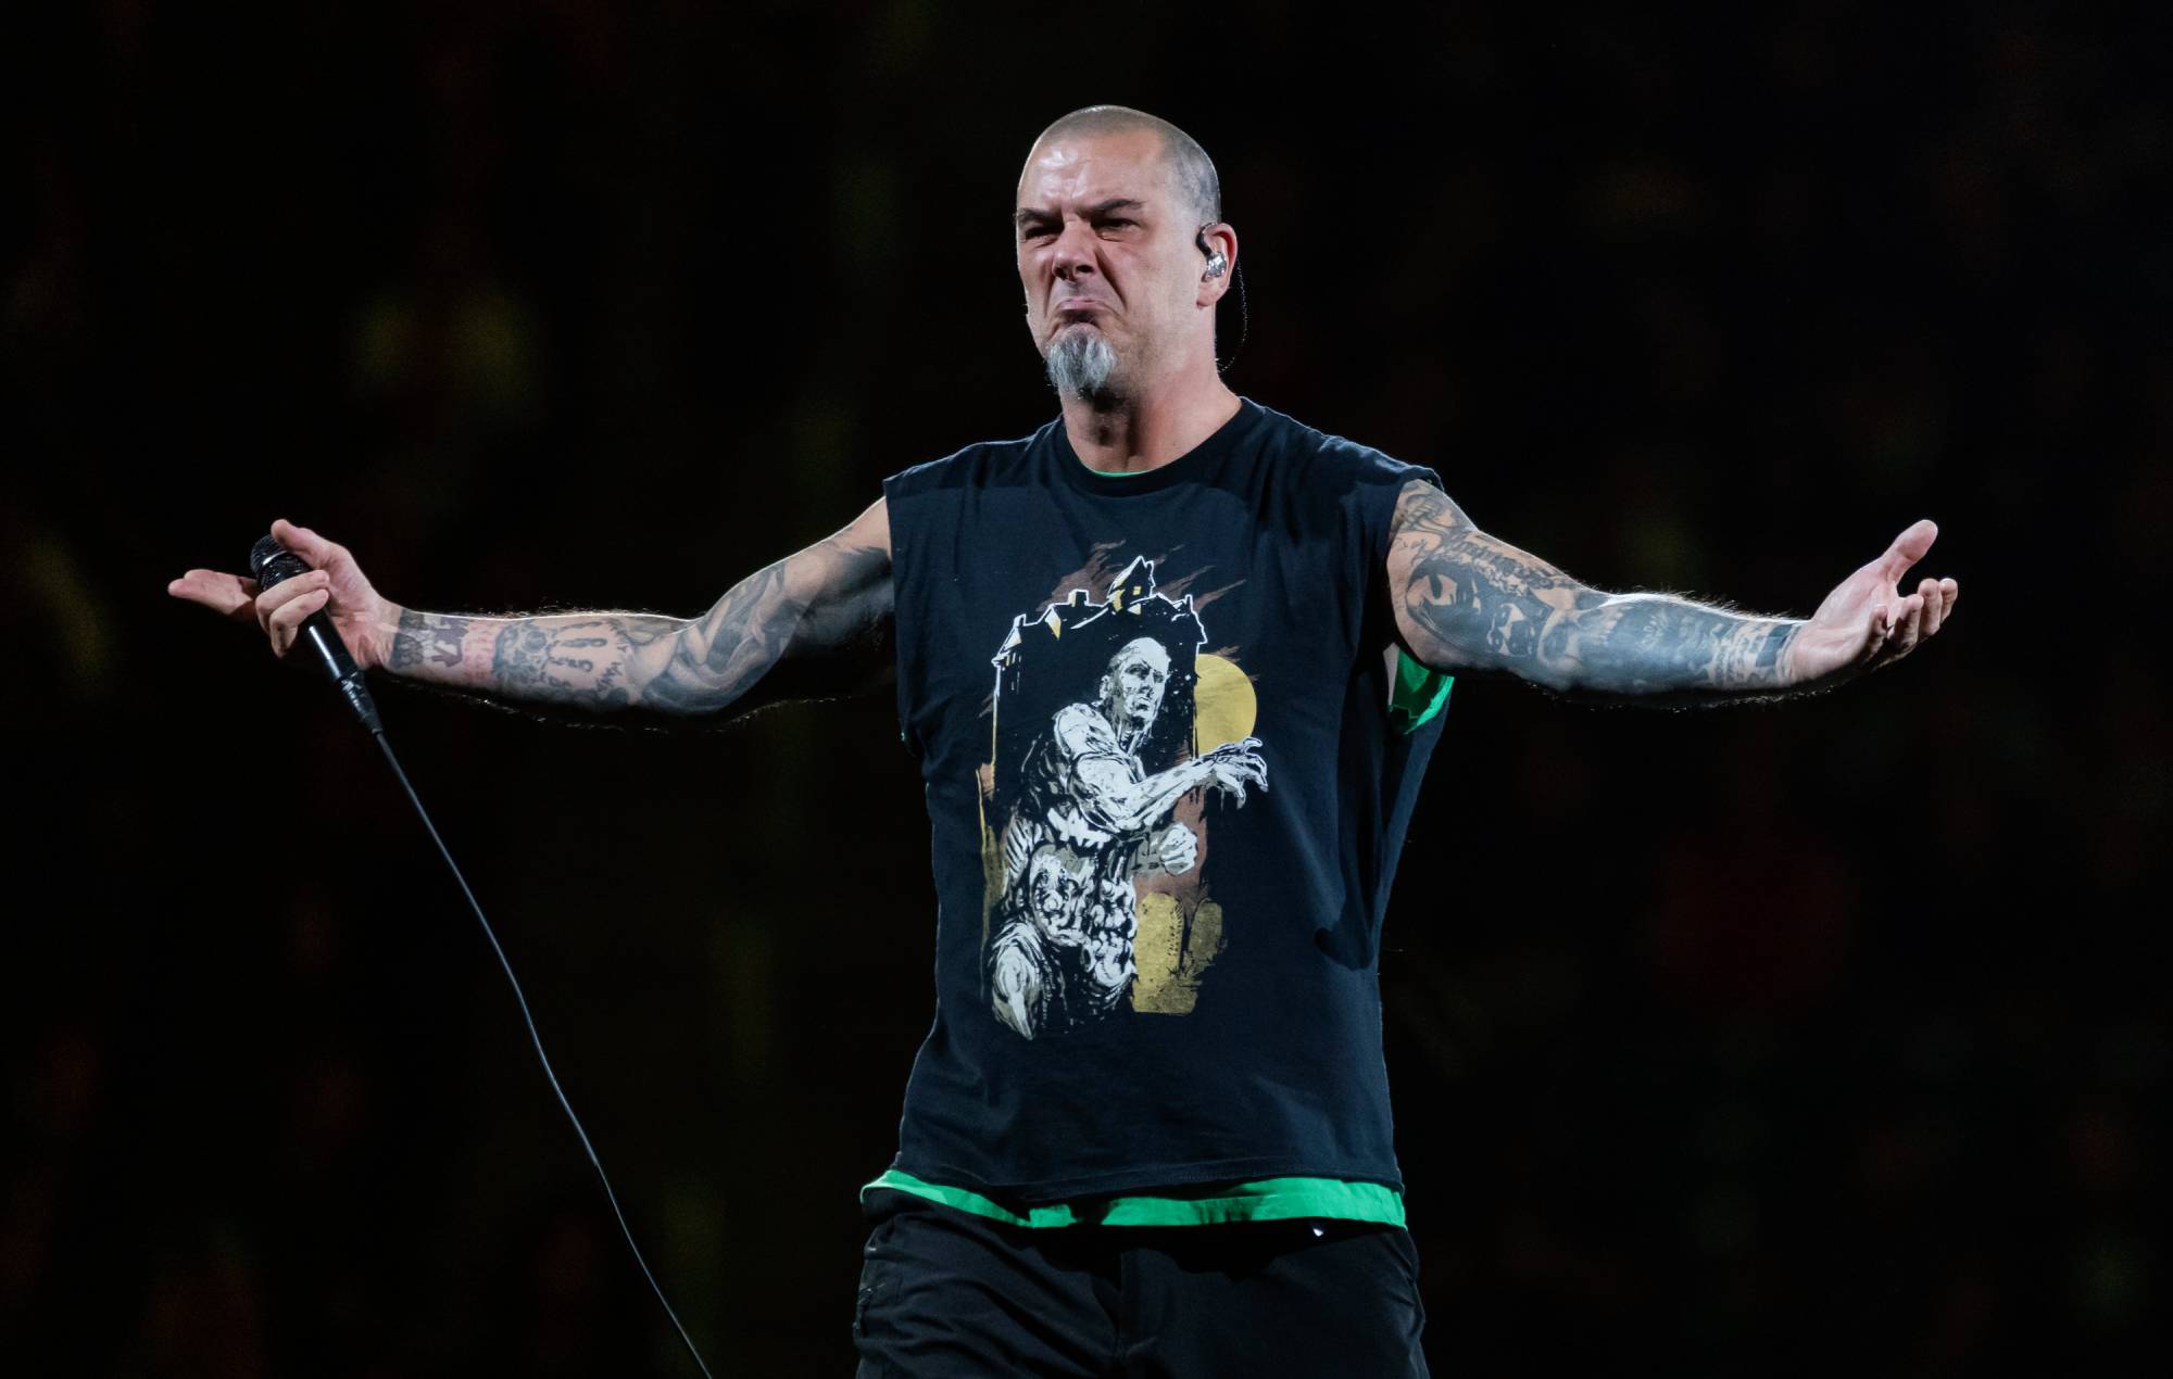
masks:
MULTIPOLYGON (((1102 473, 1095 469, 1095 473, 1102 473)), ((1141 469, 1139 473, 1147 473, 1141 469)), ((1108 476, 1119 478, 1119 476, 1108 476)), ((1128 476, 1123 476, 1128 478, 1128 476)), ((1421 665, 1410 651, 1397 649, 1395 684, 1389 691, 1389 721, 1402 734, 1419 732, 1449 701, 1454 675, 1421 665)), ((1293 1220, 1319 1216, 1326 1220, 1382 1220, 1404 1225, 1404 1197, 1382 1184, 1356 1184, 1341 1177, 1263 1177, 1249 1184, 1210 1184, 1204 1188, 1169 1188, 1154 1194, 1084 1197, 1050 1205, 1026 1205, 1023 1212, 995 1203, 967 1188, 947 1188, 884 1168, 861 1197, 876 1188, 895 1188, 928 1201, 1023 1227, 1058 1225, 1217 1225, 1223 1220, 1293 1220)))

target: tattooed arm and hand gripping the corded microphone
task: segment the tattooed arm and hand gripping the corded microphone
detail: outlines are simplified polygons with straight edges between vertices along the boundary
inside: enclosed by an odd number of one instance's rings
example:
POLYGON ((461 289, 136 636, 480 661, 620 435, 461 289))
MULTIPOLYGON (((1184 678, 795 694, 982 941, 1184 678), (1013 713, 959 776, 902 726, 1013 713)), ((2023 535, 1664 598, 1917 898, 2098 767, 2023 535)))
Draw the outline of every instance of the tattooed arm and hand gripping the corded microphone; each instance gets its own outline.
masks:
POLYGON ((263 597, 250 580, 202 569, 174 580, 169 593, 259 621, 280 656, 302 619, 328 608, 365 669, 548 712, 713 721, 778 699, 845 693, 889 669, 891 519, 880 499, 693 619, 422 612, 380 597, 346 547, 285 521, 272 534, 313 569, 263 597))

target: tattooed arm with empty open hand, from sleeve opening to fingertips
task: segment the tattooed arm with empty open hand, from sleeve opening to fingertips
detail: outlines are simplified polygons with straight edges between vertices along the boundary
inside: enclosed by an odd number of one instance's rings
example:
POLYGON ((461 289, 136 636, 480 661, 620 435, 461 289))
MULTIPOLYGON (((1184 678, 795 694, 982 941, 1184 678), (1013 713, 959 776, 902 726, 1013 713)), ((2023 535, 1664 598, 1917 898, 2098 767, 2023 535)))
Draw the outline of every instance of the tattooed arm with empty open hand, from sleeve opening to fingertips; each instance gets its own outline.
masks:
POLYGON ((1901 593, 1934 536, 1930 521, 1910 526, 1810 619, 1754 617, 1591 589, 1410 480, 1395 504, 1389 593, 1410 654, 1436 671, 1499 671, 1578 699, 1721 704, 1832 688, 1917 649, 1960 595, 1954 580, 1901 593))

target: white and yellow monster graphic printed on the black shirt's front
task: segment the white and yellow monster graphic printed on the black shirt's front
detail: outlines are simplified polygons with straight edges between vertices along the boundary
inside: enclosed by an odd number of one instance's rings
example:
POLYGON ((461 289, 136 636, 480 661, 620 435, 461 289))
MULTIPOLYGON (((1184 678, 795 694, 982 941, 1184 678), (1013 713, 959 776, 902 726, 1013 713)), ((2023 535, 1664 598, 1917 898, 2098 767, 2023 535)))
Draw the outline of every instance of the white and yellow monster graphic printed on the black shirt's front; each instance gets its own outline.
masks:
POLYGON ((991 1012, 1023 1038, 1126 1005, 1191 1014, 1223 947, 1208 801, 1243 808, 1247 788, 1267 788, 1234 649, 1202 649, 1195 597, 1158 591, 1154 560, 1110 580, 1115 547, 1015 615, 993 656, 982 964, 991 1012))

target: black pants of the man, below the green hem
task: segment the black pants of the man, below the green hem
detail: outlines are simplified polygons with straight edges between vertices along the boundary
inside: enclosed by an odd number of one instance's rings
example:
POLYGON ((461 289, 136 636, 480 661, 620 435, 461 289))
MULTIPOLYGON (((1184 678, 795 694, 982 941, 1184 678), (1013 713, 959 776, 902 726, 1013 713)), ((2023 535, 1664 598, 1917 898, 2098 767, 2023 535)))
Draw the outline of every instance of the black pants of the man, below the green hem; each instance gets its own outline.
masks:
POLYGON ((1028 1229, 887 1188, 867 1218, 858 1379, 1425 1375, 1402 1227, 1028 1229))

